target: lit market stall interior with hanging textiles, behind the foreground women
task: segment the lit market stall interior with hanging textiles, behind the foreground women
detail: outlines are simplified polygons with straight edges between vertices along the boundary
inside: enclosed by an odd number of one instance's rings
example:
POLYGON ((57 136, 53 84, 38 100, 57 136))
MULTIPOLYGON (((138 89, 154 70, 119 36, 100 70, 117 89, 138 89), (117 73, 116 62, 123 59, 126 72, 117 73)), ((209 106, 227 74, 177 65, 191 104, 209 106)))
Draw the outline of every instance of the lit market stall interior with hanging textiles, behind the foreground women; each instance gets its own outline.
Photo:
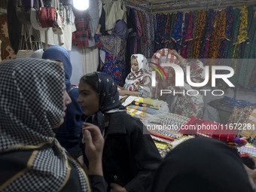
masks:
POLYGON ((161 157, 207 137, 256 158, 256 1, 72 2, 2 0, 0 62, 64 47, 72 86, 107 73, 161 157))

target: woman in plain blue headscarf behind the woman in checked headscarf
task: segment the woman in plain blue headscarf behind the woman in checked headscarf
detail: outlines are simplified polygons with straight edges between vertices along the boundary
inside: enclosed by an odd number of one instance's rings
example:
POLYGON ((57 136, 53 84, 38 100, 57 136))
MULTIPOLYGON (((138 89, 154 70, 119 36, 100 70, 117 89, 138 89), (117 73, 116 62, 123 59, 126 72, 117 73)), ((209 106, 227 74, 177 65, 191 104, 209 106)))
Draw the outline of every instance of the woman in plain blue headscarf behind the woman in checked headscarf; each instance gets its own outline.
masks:
POLYGON ((56 132, 56 139, 58 139, 59 143, 69 151, 72 157, 77 158, 81 151, 79 140, 83 123, 81 116, 84 114, 84 111, 77 102, 79 95, 78 87, 72 87, 70 82, 72 64, 70 62, 69 52, 64 47, 53 46, 44 51, 42 58, 59 60, 63 63, 66 90, 72 99, 72 103, 67 106, 66 117, 64 118, 64 123, 56 132))

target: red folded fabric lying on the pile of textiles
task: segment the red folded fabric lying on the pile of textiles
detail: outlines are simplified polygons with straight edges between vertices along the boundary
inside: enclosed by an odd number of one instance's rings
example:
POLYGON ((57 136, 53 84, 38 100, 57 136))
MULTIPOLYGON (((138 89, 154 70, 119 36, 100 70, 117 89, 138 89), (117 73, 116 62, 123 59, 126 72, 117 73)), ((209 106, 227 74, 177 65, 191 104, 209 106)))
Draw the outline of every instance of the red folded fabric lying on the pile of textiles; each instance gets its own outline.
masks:
POLYGON ((223 142, 233 142, 236 136, 236 129, 234 129, 233 126, 199 120, 196 117, 192 117, 186 126, 189 129, 181 129, 182 134, 209 137, 223 142))

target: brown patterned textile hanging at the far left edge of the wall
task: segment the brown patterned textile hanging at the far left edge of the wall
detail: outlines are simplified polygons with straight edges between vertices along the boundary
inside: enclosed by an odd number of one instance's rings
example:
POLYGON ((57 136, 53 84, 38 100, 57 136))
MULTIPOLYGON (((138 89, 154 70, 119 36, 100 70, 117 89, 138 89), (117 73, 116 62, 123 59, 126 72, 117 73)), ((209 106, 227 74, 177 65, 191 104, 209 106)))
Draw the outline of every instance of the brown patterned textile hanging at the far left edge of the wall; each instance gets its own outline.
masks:
POLYGON ((0 41, 1 44, 1 59, 14 59, 15 53, 11 47, 11 42, 8 35, 8 20, 7 14, 0 14, 0 41))

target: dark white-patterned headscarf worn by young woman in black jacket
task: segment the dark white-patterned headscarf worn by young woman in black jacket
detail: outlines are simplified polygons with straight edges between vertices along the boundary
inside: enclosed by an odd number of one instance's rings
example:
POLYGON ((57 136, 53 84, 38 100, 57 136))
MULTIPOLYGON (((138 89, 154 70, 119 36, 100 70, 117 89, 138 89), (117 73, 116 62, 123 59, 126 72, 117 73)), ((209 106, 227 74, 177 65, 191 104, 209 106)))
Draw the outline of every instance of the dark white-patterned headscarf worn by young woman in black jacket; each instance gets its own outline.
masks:
POLYGON ((99 78, 99 111, 93 114, 92 123, 99 126, 103 133, 105 129, 104 114, 126 111, 126 108, 119 100, 117 84, 114 83, 114 80, 103 72, 96 72, 96 75, 99 78))

